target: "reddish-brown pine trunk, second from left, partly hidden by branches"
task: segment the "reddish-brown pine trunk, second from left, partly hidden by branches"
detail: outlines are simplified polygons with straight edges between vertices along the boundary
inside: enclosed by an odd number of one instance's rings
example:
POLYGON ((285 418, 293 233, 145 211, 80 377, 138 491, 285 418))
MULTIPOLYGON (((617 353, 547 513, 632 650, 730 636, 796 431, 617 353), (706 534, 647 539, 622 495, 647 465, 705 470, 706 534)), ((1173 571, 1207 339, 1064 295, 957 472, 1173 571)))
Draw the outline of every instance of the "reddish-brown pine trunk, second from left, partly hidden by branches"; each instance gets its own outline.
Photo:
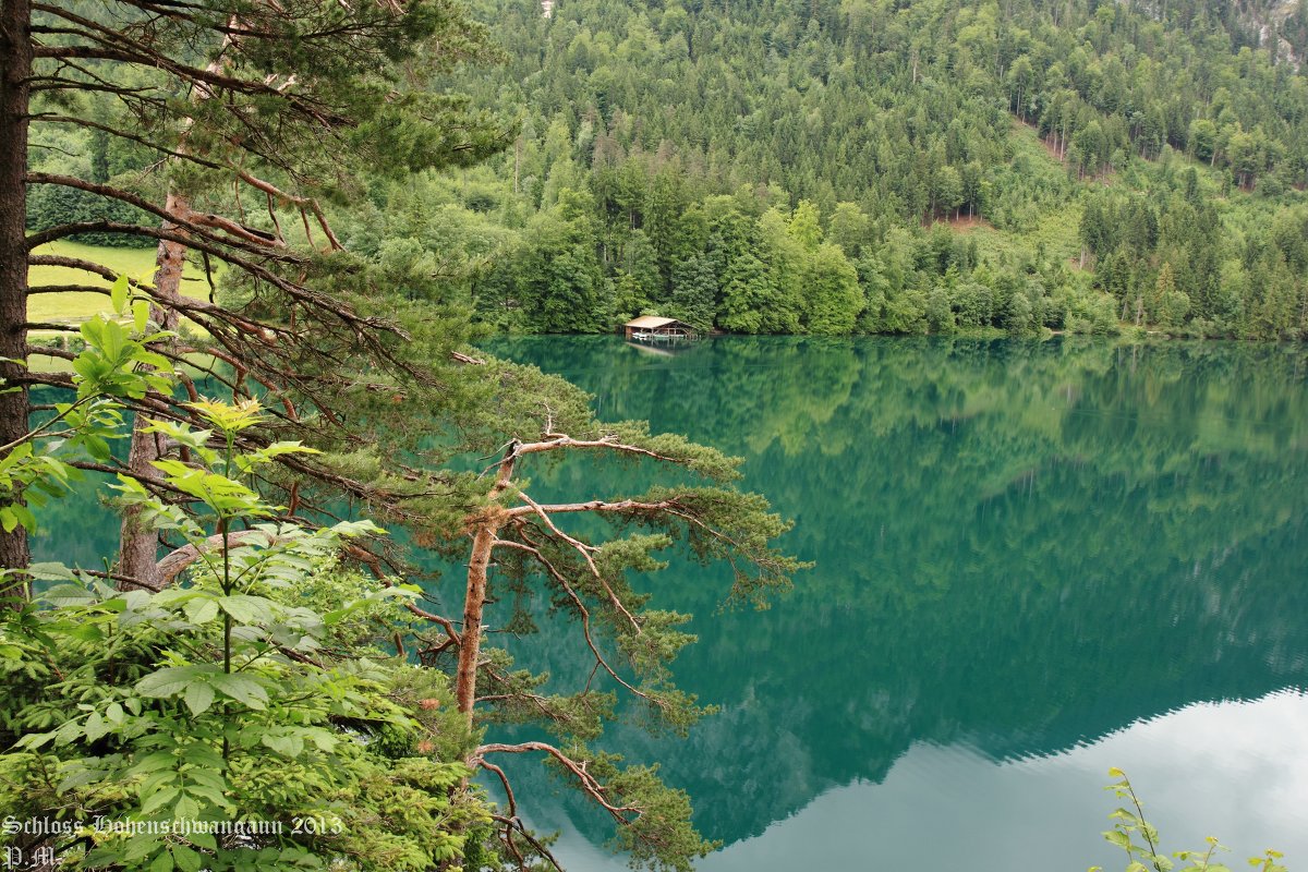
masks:
MULTIPOLYGON (((165 210, 169 214, 186 214, 191 204, 178 193, 169 193, 165 210)), ((165 230, 181 233, 179 227, 169 221, 164 222, 165 230)), ((182 271, 186 265, 186 246, 181 242, 161 239, 154 256, 154 288, 160 297, 169 299, 177 297, 182 290, 182 271)), ((171 307, 150 306, 150 318, 164 329, 175 329, 178 324, 177 310, 171 307)), ((161 480, 162 475, 154 468, 154 461, 160 460, 167 451, 166 441, 157 433, 145 433, 146 421, 137 414, 132 425, 132 446, 127 455, 127 471, 137 478, 161 480)), ((140 523, 141 509, 129 506, 123 512, 123 526, 119 531, 119 565, 118 571, 137 580, 140 586, 158 590, 164 579, 158 569, 158 533, 144 528, 140 523)), ((131 590, 131 582, 119 582, 119 588, 131 590)))

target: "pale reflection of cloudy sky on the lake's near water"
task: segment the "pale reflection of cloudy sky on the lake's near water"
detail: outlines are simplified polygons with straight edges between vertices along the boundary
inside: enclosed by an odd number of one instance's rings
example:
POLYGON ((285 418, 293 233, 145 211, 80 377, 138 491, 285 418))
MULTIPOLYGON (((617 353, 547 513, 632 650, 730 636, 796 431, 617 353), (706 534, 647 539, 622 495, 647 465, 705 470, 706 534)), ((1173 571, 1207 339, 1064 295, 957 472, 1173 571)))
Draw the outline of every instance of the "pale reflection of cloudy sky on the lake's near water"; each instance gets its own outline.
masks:
MULTIPOLYGON (((1291 868, 1308 856, 1308 698, 1278 693, 1197 703, 1049 757, 997 762, 967 745, 916 744, 880 783, 832 787, 698 868, 1122 868, 1121 851, 1099 834, 1114 807, 1100 790, 1113 765, 1144 792, 1169 851, 1219 833, 1236 852, 1218 862, 1232 868, 1269 846, 1286 851, 1291 868)), ((569 869, 625 868, 566 816, 535 822, 565 831, 559 855, 569 869)))

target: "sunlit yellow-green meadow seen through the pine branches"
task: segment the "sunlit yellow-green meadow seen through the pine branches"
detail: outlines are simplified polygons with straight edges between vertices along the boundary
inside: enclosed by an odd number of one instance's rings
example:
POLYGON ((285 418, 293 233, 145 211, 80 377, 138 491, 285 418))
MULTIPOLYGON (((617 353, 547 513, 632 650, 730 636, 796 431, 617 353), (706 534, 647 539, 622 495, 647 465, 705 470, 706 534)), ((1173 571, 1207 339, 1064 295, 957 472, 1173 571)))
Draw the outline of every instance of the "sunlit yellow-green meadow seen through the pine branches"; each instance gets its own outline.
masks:
MULTIPOLYGON (((51 242, 37 248, 37 254, 59 255, 98 263, 114 272, 126 273, 131 278, 149 281, 154 275, 153 248, 105 248, 85 246, 77 242, 51 242)), ((182 293, 203 298, 209 293, 201 269, 187 264, 182 293)), ((60 293, 33 294, 27 298, 27 318, 34 322, 58 322, 76 324, 93 315, 107 314, 110 282, 84 269, 68 267, 31 267, 27 269, 27 284, 38 285, 88 285, 103 288, 105 293, 60 293)))

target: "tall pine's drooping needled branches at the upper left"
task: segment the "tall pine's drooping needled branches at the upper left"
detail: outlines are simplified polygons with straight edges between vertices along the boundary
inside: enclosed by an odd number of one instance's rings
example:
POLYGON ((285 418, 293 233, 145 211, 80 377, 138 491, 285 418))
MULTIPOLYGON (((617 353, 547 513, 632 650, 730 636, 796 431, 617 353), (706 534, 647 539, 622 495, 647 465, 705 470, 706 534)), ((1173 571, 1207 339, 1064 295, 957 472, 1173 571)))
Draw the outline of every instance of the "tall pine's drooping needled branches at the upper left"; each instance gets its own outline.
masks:
MULTIPOLYGON (((114 212, 102 209, 92 220, 42 227, 22 241, 22 260, 103 276, 98 264, 35 250, 85 233, 157 242, 153 280, 139 282, 153 302, 153 320, 171 328, 184 318, 192 332, 203 333, 204 353, 235 373, 211 378, 226 380, 234 395, 279 395, 285 411, 271 424, 332 438, 331 428, 322 426, 331 416, 313 416, 318 421, 309 424, 298 411, 320 411, 319 397, 341 392, 352 370, 403 369, 394 346, 404 331, 368 311, 373 277, 365 264, 332 256, 341 246, 322 201, 357 193, 365 166, 377 175, 404 173, 467 163, 494 150, 494 128, 464 112, 458 99, 404 86, 485 55, 484 31, 470 27, 447 3, 361 9, 318 3, 35 4, 25 34, 31 103, 24 119, 35 131, 34 146, 54 143, 60 150, 60 143, 81 143, 92 146, 94 165, 107 165, 112 150, 135 171, 93 180, 29 170, 25 187, 127 204, 136 220, 115 221, 114 212), (246 210, 242 195, 245 203, 259 203, 256 214, 246 210), (283 229, 284 220, 297 218, 302 239, 283 229), (203 260, 207 302, 181 293, 188 251, 203 260), (230 268, 222 305, 213 302, 217 264, 230 268)), ((20 143, 7 140, 7 146, 8 159, 26 159, 20 143)), ((26 293, 94 290, 13 284, 4 295, 21 306, 26 293)), ((21 339, 29 327, 67 329, 26 318, 10 329, 21 339)), ((456 341, 451 337, 451 345, 456 341)), ((167 343, 156 350, 183 362, 199 344, 167 343)), ((29 374, 26 380, 58 384, 65 378, 29 374)), ((337 428, 335 441, 348 439, 337 428)), ((150 464, 162 454, 156 442, 133 439, 133 476, 154 475, 150 464)), ((301 465, 300 472, 309 469, 301 465)), ((365 481, 354 488, 369 490, 365 481)), ((135 529, 128 516, 123 537, 124 583, 158 587, 156 536, 135 529)))

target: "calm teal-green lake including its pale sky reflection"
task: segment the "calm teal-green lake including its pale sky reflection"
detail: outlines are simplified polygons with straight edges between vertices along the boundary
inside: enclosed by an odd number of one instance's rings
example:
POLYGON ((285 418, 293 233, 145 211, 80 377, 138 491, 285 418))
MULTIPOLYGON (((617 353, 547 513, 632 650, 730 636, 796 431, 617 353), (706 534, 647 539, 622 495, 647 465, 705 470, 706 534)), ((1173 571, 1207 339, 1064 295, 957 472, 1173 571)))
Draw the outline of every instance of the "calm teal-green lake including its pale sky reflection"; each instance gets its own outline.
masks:
MULTIPOLYGON (((1308 863, 1301 346, 488 348, 572 379, 604 418, 744 456, 744 486, 815 562, 766 612, 715 614, 721 567, 650 580, 655 607, 697 616, 679 685, 722 711, 688 740, 620 724, 604 746, 691 794, 723 842, 700 868, 1121 869, 1100 835, 1109 766, 1168 851, 1213 834, 1232 867, 1267 847, 1308 863)), ((530 475, 623 489, 603 469, 530 475)), ((544 642, 531 665, 585 668, 574 642, 544 642)), ((625 868, 599 814, 515 771, 569 869, 625 868)))

